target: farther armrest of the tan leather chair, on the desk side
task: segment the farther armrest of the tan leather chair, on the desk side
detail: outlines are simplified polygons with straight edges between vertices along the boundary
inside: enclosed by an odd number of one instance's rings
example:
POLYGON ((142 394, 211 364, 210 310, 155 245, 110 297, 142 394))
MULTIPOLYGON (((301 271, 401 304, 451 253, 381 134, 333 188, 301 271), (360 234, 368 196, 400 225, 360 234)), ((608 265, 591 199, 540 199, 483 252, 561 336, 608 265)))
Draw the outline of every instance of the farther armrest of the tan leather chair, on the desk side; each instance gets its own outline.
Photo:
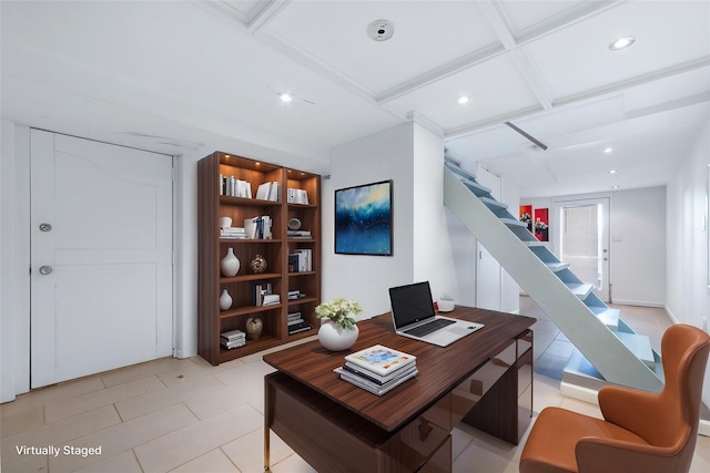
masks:
POLYGON ((605 420, 650 441, 657 428, 658 394, 618 385, 599 390, 599 409, 605 420))

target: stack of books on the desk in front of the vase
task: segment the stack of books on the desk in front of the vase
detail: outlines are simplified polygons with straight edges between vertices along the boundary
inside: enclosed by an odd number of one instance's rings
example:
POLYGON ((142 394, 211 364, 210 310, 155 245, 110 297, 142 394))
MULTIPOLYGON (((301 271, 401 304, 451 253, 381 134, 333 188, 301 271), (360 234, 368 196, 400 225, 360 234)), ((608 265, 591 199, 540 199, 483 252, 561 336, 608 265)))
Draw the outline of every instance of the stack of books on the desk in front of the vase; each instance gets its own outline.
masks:
POLYGON ((345 364, 336 368, 341 379, 382 395, 417 376, 416 357, 375 345, 345 357, 345 364))

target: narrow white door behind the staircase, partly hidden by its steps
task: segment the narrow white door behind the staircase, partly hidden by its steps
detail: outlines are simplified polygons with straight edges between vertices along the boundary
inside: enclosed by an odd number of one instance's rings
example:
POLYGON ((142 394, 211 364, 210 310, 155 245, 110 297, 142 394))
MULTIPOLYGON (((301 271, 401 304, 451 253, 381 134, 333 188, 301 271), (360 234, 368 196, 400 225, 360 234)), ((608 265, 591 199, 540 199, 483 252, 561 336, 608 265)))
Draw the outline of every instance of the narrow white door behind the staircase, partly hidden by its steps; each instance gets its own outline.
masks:
MULTIPOLYGON (((490 195, 500 200, 500 177, 478 166, 476 181, 490 189, 490 195)), ((496 258, 476 241, 478 259, 476 260, 476 307, 500 310, 501 268, 496 258)))

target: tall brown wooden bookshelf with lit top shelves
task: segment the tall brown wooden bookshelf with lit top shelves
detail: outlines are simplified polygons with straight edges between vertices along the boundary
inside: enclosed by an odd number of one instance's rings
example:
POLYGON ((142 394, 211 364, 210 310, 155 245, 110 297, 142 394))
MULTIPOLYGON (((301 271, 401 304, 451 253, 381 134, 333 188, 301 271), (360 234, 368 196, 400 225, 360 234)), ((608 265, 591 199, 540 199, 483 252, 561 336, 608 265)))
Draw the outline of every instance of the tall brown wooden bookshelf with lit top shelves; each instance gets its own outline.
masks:
POLYGON ((197 353, 216 366, 316 333, 315 307, 321 302, 321 176, 215 152, 197 163, 197 353), (232 176, 248 183, 251 198, 225 195, 222 177, 232 176), (278 200, 255 198, 258 186, 272 182, 278 184, 278 200), (307 196, 307 204, 288 203, 288 188, 300 189, 302 196, 307 196), (271 239, 220 237, 220 217, 230 217, 233 227, 243 227, 245 219, 257 216, 271 217, 271 239), (301 223, 302 232, 310 232, 307 238, 288 237, 288 223, 294 218, 301 223), (229 248, 240 260, 240 270, 232 277, 220 270, 229 248), (310 270, 290 271, 294 268, 288 266, 288 255, 296 251, 310 255, 310 270), (261 274, 250 265, 257 254, 267 264, 261 274), (257 307, 254 286, 267 284, 281 300, 257 307), (227 310, 220 309, 224 289, 233 299, 227 310), (288 299, 290 290, 303 296, 288 299), (312 328, 288 335, 287 315, 296 311, 312 328), (250 317, 263 321, 260 338, 231 350, 221 347, 220 333, 234 329, 245 332, 250 317))

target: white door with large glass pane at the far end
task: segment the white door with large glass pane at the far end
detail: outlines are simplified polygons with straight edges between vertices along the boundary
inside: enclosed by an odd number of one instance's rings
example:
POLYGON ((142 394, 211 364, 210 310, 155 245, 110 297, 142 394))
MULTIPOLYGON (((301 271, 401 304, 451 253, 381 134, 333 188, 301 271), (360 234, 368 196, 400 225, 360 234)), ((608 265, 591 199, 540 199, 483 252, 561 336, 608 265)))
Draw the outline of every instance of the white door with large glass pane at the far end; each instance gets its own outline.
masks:
POLYGON ((609 302, 609 198, 558 202, 555 215, 560 261, 609 302))

